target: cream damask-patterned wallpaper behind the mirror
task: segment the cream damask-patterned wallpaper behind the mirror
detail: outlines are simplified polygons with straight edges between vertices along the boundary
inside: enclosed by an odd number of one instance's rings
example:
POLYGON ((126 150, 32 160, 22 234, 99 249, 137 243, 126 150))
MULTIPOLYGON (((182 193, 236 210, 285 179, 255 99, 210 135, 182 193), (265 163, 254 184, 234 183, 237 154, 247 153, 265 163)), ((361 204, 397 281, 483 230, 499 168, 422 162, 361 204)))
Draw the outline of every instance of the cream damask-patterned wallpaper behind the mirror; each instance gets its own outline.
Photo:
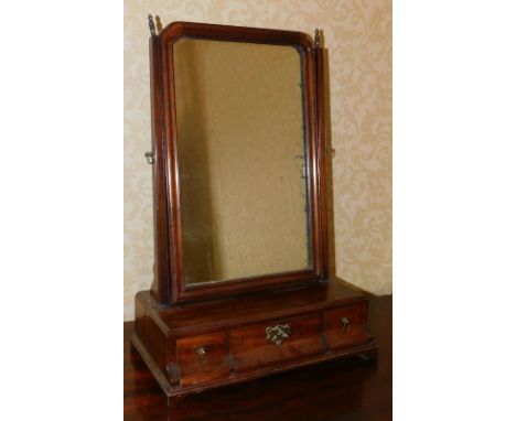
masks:
POLYGON ((123 319, 152 282, 149 29, 194 21, 313 34, 329 50, 336 276, 376 294, 393 284, 390 0, 126 0, 123 12, 123 319))

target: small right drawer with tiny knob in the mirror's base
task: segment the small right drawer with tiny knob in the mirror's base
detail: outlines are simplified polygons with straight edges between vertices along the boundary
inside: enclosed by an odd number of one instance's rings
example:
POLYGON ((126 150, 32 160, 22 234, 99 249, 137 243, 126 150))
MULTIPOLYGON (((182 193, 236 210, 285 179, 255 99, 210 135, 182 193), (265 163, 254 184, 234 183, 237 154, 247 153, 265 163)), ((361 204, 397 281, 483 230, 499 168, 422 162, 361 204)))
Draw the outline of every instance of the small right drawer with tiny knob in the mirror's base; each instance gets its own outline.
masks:
POLYGON ((330 310, 324 316, 326 339, 330 348, 359 345, 369 338, 366 328, 366 303, 330 310))

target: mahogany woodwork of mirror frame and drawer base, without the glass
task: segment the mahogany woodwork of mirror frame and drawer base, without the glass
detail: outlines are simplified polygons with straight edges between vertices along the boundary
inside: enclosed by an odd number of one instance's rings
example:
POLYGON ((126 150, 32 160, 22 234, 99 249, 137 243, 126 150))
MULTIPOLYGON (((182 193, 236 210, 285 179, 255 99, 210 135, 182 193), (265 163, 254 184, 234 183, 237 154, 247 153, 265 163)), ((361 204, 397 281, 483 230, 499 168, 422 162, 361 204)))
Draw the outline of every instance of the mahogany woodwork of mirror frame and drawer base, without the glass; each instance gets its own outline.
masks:
POLYGON ((368 299, 329 279, 325 69, 321 46, 313 45, 309 35, 292 31, 174 22, 160 34, 152 34, 150 47, 155 277, 151 291, 136 296, 133 345, 164 393, 176 402, 185 395, 301 366, 357 354, 374 355, 375 341, 366 333, 368 299), (186 285, 173 83, 173 44, 182 36, 291 45, 300 52, 310 269, 186 285), (352 321, 350 332, 344 334, 338 331, 343 314, 352 321), (279 323, 291 324, 291 337, 280 346, 267 343, 266 327, 279 323), (205 353, 200 354, 201 348, 205 353))

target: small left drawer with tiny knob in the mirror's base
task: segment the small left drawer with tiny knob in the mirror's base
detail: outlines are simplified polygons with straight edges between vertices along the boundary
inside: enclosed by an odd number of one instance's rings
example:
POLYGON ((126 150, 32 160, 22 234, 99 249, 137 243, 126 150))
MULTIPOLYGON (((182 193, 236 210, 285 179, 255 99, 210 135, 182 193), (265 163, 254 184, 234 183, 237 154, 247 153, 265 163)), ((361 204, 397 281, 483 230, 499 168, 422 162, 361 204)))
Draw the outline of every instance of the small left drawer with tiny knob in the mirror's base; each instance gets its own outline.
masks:
POLYGON ((182 386, 209 382, 229 375, 225 332, 183 337, 175 346, 182 386))

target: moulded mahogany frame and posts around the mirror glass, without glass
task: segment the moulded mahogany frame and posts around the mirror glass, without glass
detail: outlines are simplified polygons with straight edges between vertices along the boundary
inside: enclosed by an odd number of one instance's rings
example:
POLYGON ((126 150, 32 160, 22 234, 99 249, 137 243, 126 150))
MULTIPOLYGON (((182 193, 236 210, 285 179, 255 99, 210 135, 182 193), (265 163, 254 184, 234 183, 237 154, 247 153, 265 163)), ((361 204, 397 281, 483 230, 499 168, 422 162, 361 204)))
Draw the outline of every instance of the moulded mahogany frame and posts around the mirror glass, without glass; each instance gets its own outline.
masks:
POLYGON ((151 121, 154 280, 151 294, 160 305, 227 296, 254 290, 320 282, 327 278, 327 216, 324 127, 324 69, 319 32, 315 42, 301 32, 173 22, 159 34, 151 29, 151 121), (182 37, 290 45, 302 56, 307 140, 307 193, 311 206, 312 268, 284 273, 186 285, 183 270, 173 45, 182 37))

